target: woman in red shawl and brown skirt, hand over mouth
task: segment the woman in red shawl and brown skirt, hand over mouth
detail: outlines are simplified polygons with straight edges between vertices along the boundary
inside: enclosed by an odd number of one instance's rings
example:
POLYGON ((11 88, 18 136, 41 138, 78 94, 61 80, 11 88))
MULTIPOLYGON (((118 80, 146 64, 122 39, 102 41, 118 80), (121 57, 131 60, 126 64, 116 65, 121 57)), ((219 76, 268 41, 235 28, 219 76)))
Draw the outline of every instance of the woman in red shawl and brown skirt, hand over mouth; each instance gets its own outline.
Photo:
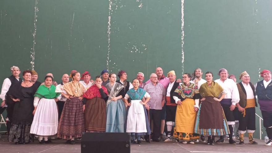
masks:
POLYGON ((96 76, 96 83, 83 94, 85 129, 87 132, 105 132, 106 103, 108 91, 102 86, 101 76, 96 76))

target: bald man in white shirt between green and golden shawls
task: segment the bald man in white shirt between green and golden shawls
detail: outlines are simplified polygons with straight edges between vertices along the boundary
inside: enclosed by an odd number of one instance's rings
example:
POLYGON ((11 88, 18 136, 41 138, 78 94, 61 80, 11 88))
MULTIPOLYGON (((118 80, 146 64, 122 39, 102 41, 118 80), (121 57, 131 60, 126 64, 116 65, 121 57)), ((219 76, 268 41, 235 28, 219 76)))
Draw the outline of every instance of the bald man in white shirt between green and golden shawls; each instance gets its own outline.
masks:
MULTIPOLYGON (((69 75, 63 74, 62 75, 62 83, 57 85, 57 87, 61 88, 61 86, 63 86, 64 84, 66 84, 68 82, 69 82, 69 75)), ((66 91, 63 90, 63 93, 66 94, 66 91)), ((64 104, 65 104, 65 101, 67 100, 67 98, 64 96, 64 94, 62 94, 62 98, 57 101, 58 120, 60 119, 60 117, 62 115, 62 110, 63 110, 64 104)))

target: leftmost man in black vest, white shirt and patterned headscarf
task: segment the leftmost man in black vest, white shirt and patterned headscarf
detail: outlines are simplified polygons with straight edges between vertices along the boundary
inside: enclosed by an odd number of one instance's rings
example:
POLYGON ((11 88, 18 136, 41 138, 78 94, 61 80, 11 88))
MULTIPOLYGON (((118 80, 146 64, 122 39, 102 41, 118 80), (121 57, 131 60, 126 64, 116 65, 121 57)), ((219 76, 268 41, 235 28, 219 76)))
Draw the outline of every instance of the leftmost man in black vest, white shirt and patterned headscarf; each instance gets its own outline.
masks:
POLYGON ((19 74, 21 73, 19 67, 12 66, 11 73, 12 75, 4 80, 2 84, 1 94, 0 94, 0 98, 3 100, 1 106, 3 107, 5 104, 7 105, 6 111, 7 111, 7 117, 9 121, 7 122, 6 126, 7 126, 8 134, 11 129, 14 102, 10 98, 8 98, 8 96, 6 96, 6 93, 10 87, 13 87, 16 83, 20 83, 23 81, 21 78, 19 78, 19 74))

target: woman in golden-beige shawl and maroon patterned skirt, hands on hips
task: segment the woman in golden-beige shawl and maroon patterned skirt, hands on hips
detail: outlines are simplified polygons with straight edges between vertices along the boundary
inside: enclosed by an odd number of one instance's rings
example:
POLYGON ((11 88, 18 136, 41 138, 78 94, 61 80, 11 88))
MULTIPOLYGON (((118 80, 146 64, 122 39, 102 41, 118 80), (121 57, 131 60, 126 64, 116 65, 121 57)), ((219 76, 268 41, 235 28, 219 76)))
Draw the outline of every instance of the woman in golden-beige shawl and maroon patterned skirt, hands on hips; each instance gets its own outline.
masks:
POLYGON ((57 136, 67 139, 66 143, 75 144, 74 138, 81 137, 82 132, 85 132, 82 95, 86 89, 79 83, 79 72, 72 70, 70 78, 72 78, 71 82, 56 89, 56 92, 61 92, 62 96, 67 98, 59 121, 57 136), (66 94, 63 91, 66 91, 66 94))

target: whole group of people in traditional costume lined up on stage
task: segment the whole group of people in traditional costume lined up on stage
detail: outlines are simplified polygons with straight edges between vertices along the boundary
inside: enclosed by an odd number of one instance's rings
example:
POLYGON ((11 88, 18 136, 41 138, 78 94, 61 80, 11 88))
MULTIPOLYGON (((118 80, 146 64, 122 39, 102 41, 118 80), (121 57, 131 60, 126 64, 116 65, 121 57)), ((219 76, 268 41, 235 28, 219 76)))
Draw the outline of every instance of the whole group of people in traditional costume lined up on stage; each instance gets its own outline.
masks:
POLYGON ((51 73, 40 83, 35 70, 23 71, 23 80, 19 67, 12 66, 11 72, 3 82, 0 98, 1 106, 7 105, 9 141, 16 144, 31 142, 33 135, 39 136, 41 144, 50 143, 49 136, 55 134, 75 144, 74 139, 82 132, 127 132, 132 136, 131 143, 138 144, 141 139, 171 142, 173 138, 194 144, 199 139, 206 142, 207 136, 207 144, 214 145, 223 143, 227 135, 229 143, 236 144, 233 136, 237 125, 239 144, 244 145, 248 132, 249 143, 256 145, 253 133, 258 98, 269 137, 265 145, 272 145, 269 70, 261 72, 264 79, 255 86, 246 71, 239 76, 242 81, 236 83, 236 77, 224 68, 219 70, 220 79, 213 81, 210 71, 202 79, 200 68, 177 79, 174 70, 164 76, 162 68, 157 67, 147 82, 139 72, 131 83, 124 70, 117 75, 103 70, 95 80, 88 71, 81 75, 72 70, 70 75, 63 74, 60 84, 51 73), (220 136, 217 141, 216 136, 220 136))

